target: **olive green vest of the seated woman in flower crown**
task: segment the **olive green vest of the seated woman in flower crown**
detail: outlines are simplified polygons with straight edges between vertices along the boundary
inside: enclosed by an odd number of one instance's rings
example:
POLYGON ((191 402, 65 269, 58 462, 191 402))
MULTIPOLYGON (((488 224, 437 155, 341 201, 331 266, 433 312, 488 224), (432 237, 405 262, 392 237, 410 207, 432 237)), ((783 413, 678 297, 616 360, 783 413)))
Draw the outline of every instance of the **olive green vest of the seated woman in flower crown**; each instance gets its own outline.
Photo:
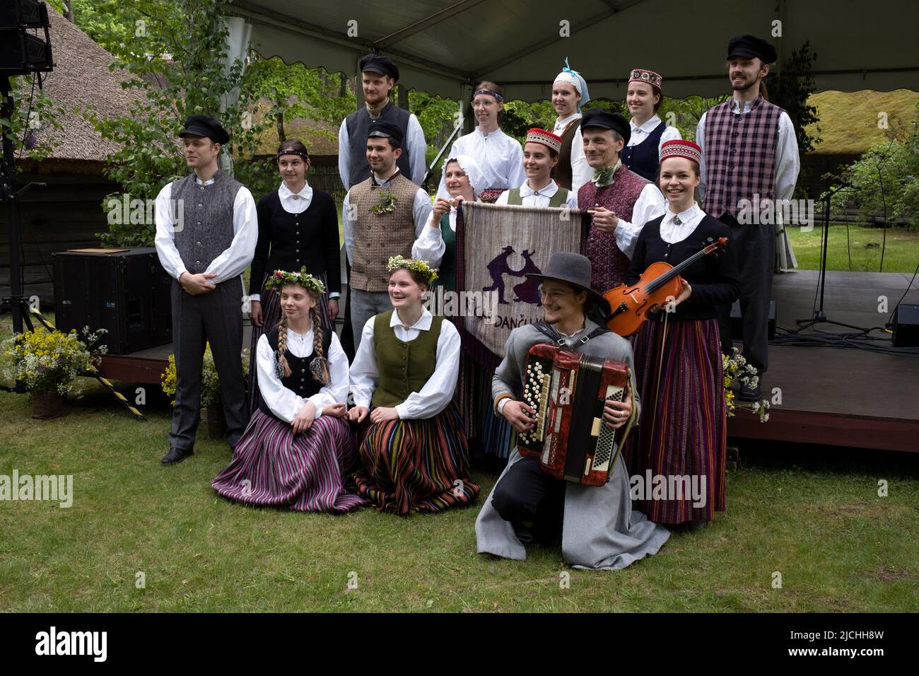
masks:
POLYGON ((396 338, 390 327, 393 312, 373 318, 373 353, 380 372, 380 383, 370 399, 374 408, 398 406, 408 395, 421 392, 437 366, 437 338, 444 318, 432 317, 429 330, 421 331, 418 338, 405 343, 396 338))

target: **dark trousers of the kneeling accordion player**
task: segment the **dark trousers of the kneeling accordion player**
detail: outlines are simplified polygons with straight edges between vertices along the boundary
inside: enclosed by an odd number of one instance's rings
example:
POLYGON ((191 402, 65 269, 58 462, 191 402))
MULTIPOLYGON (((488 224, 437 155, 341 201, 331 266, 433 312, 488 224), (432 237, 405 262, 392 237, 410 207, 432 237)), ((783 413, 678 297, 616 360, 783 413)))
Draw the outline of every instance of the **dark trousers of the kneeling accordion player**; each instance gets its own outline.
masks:
POLYGON ((514 525, 524 544, 557 542, 562 536, 565 482, 539 469, 539 460, 523 458, 494 487, 492 507, 514 525))

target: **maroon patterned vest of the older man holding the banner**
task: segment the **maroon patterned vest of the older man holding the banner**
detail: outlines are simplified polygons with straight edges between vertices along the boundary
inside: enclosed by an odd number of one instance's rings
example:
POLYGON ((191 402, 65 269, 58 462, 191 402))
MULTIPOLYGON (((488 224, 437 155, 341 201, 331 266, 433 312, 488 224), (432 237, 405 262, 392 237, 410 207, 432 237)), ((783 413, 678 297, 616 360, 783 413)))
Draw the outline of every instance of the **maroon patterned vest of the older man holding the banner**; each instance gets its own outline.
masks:
MULTIPOLYGON (((651 181, 641 178, 625 165, 613 174, 613 182, 597 189, 594 181, 587 181, 577 191, 578 209, 606 207, 623 221, 631 223, 631 212, 635 208, 641 190, 651 181)), ((644 223, 641 223, 642 225, 644 223)), ((593 225, 587 235, 584 254, 590 258, 590 285, 596 292, 605 293, 615 289, 626 280, 629 257, 616 244, 616 235, 601 233, 593 225)))

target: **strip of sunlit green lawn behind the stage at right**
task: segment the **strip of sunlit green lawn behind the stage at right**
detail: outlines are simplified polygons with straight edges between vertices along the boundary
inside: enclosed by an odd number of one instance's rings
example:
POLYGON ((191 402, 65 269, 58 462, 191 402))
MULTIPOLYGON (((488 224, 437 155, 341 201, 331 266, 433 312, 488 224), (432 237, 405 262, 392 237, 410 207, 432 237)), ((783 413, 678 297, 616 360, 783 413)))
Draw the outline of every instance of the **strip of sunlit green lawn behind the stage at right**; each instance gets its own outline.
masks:
MULTIPOLYGON (((800 228, 789 228, 791 246, 798 258, 799 269, 820 269, 821 237, 823 225, 816 224, 809 233, 800 228)), ((862 272, 909 272, 919 263, 919 231, 910 228, 888 228, 884 252, 884 269, 880 269, 882 228, 849 225, 846 234, 844 223, 830 224, 830 239, 826 253, 828 270, 857 270, 862 272), (846 236, 848 241, 846 241, 846 236), (852 266, 849 267, 851 253, 852 266)))

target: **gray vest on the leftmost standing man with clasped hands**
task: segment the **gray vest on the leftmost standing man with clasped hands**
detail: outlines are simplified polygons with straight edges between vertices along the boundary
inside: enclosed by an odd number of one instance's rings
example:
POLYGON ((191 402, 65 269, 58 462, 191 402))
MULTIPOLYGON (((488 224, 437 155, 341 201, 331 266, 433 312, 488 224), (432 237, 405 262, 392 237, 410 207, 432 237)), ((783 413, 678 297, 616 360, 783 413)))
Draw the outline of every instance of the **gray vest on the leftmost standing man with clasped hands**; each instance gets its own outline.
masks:
POLYGON ((176 249, 192 274, 208 269, 233 243, 233 201, 242 187, 220 170, 207 186, 199 185, 195 174, 173 183, 171 197, 184 218, 176 229, 176 249))

